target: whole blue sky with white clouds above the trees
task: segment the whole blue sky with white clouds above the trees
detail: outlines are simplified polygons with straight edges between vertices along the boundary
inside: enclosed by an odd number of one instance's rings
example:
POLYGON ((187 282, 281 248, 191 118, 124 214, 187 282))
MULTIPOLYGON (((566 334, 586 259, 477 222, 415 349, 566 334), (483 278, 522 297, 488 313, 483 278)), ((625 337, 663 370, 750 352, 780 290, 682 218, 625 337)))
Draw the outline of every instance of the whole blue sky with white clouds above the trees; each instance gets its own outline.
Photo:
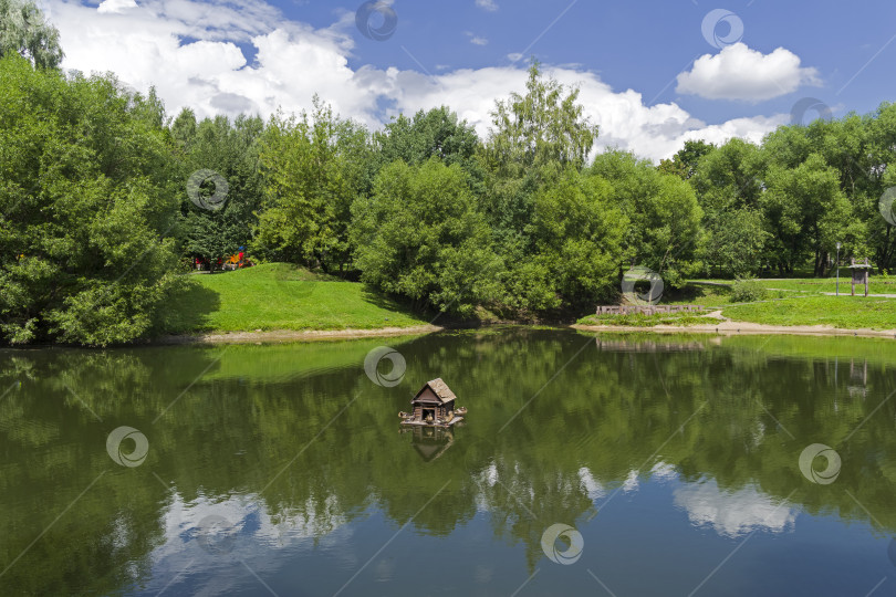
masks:
POLYGON ((155 85, 169 115, 299 113, 316 93, 376 129, 448 105, 482 138, 532 59, 580 90, 597 148, 685 140, 896 100, 893 0, 42 0, 64 69, 155 85))

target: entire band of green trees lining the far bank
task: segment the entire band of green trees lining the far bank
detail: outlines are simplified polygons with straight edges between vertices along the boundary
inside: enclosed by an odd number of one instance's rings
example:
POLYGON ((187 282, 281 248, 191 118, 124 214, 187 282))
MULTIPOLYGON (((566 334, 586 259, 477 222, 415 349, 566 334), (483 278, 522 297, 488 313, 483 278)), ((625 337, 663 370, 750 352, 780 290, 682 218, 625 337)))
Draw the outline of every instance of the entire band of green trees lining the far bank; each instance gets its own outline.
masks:
POLYGON ((240 248, 416 308, 519 320, 615 301, 633 265, 667 286, 826 275, 842 242, 842 258, 894 268, 894 218, 878 209, 896 185, 892 104, 782 126, 761 145, 687 142, 655 166, 596 151, 577 90, 538 63, 480 138, 447 106, 372 132, 317 97, 310 112, 267 121, 171 117, 154 90, 61 73, 45 36, 27 45, 0 48, 8 343, 150 335, 179 274, 240 248))

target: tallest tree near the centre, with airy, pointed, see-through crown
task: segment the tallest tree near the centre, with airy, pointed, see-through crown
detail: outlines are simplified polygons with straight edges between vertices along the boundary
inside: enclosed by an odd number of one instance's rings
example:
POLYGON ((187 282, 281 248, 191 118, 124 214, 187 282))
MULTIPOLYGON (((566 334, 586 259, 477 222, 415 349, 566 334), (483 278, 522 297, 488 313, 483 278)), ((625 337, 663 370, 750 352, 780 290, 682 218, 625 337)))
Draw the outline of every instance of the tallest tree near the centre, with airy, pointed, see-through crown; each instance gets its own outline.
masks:
POLYGON ((506 263, 503 302, 518 313, 559 308, 564 297, 552 279, 559 248, 551 248, 552 256, 542 259, 540 251, 548 245, 536 238, 548 226, 543 209, 549 195, 542 191, 560 184, 567 168, 584 167, 597 126, 584 116, 579 90, 545 80, 538 62, 529 69, 525 95, 512 93, 497 102, 491 116, 480 159, 487 170, 481 197, 506 263))

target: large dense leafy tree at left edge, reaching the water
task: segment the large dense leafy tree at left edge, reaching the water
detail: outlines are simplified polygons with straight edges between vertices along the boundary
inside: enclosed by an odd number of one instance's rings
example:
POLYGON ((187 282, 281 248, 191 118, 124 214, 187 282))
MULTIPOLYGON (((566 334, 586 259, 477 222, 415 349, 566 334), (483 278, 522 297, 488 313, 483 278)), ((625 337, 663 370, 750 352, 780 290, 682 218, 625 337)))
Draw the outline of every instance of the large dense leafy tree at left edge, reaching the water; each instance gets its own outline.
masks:
POLYGON ((114 78, 0 59, 0 336, 106 345, 175 287, 176 165, 160 106, 114 78), (156 114, 158 116, 158 114, 156 114))

